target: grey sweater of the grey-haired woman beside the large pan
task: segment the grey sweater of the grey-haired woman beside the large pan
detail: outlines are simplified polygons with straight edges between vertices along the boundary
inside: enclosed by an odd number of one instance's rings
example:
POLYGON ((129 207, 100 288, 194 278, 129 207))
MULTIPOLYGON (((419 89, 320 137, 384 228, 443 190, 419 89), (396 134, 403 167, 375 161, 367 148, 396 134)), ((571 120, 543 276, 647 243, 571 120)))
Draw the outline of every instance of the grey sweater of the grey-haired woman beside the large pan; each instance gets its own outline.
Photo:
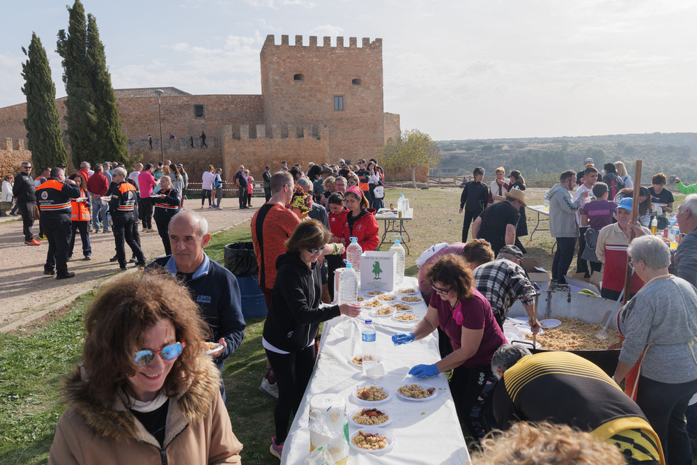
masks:
POLYGON ((645 344, 641 374, 661 383, 697 379, 697 291, 679 277, 646 284, 620 313, 627 340, 620 362, 633 366, 645 344))

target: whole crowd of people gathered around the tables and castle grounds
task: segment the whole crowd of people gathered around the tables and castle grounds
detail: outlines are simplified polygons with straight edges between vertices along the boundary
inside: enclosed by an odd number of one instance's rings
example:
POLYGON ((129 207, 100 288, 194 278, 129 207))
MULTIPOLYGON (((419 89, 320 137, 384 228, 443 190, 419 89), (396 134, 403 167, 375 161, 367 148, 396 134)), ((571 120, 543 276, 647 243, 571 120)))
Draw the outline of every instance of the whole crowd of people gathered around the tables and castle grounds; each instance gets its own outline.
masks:
MULTIPOLYGON (((187 177, 181 167, 147 164, 128 174, 124 167, 105 166, 91 169, 85 162, 67 180, 64 167, 54 167, 34 190, 30 162, 14 180, 6 178, 13 197, 22 199, 16 204, 26 216, 28 245, 38 242, 31 231, 33 202, 38 204, 41 233, 49 241, 46 274, 70 277, 76 234, 89 259, 89 232, 98 228, 113 231, 120 268, 128 258, 124 243, 145 268, 142 277, 124 276, 105 286, 85 316, 83 360, 66 384, 70 406, 56 428, 49 463, 91 463, 105 451, 120 461, 239 463, 242 444, 231 429, 222 380, 224 361, 244 338, 236 277, 204 252, 210 240, 205 218, 182 210, 187 177), (166 252, 150 264, 138 239, 139 222, 143 231, 154 232, 148 213, 166 252), (210 344, 206 354, 201 341, 210 344)), ((697 411, 688 406, 697 391, 697 193, 690 192, 697 185, 675 179, 689 195, 676 215, 684 237, 671 254, 643 225, 645 215, 668 221, 673 197, 664 188, 666 176, 653 176, 652 188, 640 190, 639 222, 633 224, 631 177, 621 163, 606 164, 604 171, 598 181, 599 171, 586 160, 583 176, 562 172, 546 197, 556 239, 551 289, 565 289, 579 236, 579 263, 587 262, 589 274, 603 271, 604 297, 617 299, 625 291, 623 280, 615 278, 624 275, 627 257, 634 270, 631 300, 618 316, 623 345, 612 377, 571 353, 533 355, 507 344, 503 321, 516 300, 528 314, 530 332, 541 328, 533 306, 537 291, 522 266, 526 250, 519 238, 527 230, 521 228, 526 185, 520 171, 506 177, 503 167, 497 169, 486 185, 484 169, 477 167, 461 195, 463 241, 434 245, 417 260, 427 314, 392 341, 408 344, 440 333, 440 360, 415 365, 409 374, 452 372, 461 426, 482 441, 477 463, 510 454, 507 441, 517 441, 523 457, 533 443, 560 443, 561 434, 576 452, 581 444, 588 454, 604 457, 597 463, 691 462, 697 442, 691 442, 697 438, 697 411), (629 395, 620 390, 622 382, 629 395), (536 424, 546 420, 573 429, 536 424), (499 429, 503 433, 492 433, 499 429)), ((220 175, 213 166, 204 173, 202 208, 206 198, 220 208, 220 175)), ((289 419, 312 374, 319 323, 360 313, 355 303, 331 305, 332 273, 344 266, 351 238, 364 251, 378 245, 374 215, 382 205, 383 176, 376 160, 358 160, 355 167, 343 160, 311 165, 307 173, 283 162, 261 176, 266 202, 250 225, 268 308, 262 337, 267 366, 259 390, 277 398, 270 452, 279 459, 289 419)), ((239 208, 250 206, 252 181, 240 166, 234 177, 239 208)), ((557 457, 576 453, 569 447, 556 449, 557 457)))

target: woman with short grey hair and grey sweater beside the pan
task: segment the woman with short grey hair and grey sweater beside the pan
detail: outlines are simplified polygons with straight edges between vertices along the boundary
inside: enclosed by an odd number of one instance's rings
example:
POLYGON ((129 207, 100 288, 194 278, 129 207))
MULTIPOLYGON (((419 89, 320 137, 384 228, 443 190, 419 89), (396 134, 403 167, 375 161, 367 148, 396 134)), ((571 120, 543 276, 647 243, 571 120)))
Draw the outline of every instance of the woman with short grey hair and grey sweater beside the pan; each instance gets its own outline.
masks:
POLYGON ((627 394, 636 395, 666 463, 691 464, 684 413, 697 390, 697 290, 668 273, 671 254, 660 238, 638 237, 627 253, 646 284, 618 315, 625 341, 613 379, 625 380, 627 394), (633 369, 636 381, 629 376, 633 369))

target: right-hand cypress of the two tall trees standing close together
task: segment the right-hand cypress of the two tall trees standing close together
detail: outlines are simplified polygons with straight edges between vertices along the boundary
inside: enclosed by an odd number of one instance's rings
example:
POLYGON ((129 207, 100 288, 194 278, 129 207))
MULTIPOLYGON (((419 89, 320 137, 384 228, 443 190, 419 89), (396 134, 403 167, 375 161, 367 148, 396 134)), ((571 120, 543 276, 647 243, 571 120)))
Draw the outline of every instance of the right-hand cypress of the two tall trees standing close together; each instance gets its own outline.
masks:
POLYGON ((125 163, 128 149, 126 137, 121 129, 116 97, 112 88, 112 77, 107 69, 104 45, 99 39, 97 22, 93 15, 87 15, 87 53, 86 68, 92 84, 95 106, 95 139, 93 153, 100 160, 125 163))

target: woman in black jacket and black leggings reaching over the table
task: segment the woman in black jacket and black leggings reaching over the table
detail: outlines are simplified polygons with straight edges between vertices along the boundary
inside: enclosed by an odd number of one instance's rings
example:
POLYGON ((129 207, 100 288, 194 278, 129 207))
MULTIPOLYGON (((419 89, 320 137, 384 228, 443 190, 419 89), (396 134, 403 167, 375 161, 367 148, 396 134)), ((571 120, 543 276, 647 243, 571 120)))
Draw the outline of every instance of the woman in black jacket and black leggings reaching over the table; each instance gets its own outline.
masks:
POLYGON ((298 224, 286 241, 286 253, 276 260, 278 275, 263 326, 262 345, 278 383, 273 415, 276 436, 270 451, 281 458, 291 412, 300 406, 314 366, 314 338, 319 323, 344 314, 357 317, 360 305, 320 307, 321 257, 332 234, 317 220, 298 224))

